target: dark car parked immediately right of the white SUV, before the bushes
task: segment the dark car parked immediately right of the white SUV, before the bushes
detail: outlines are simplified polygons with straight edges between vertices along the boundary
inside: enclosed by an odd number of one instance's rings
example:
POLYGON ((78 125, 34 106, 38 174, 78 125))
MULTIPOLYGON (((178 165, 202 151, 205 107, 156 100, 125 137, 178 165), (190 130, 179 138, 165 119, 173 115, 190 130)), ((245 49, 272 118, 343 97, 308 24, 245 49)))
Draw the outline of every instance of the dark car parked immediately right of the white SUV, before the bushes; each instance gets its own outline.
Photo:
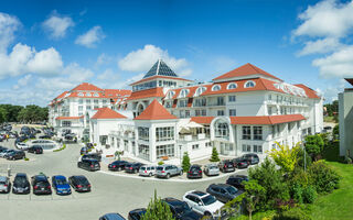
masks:
POLYGON ((227 184, 211 184, 206 191, 224 204, 243 194, 243 191, 227 184))

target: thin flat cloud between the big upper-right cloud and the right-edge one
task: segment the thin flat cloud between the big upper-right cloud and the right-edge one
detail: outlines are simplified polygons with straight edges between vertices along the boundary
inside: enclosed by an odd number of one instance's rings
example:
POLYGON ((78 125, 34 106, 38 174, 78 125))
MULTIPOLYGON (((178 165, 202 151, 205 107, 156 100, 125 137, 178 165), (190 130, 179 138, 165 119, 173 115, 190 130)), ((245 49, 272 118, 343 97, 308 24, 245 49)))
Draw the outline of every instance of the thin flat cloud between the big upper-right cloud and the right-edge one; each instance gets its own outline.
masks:
POLYGON ((338 38, 332 37, 308 41, 304 43, 304 47, 297 55, 304 56, 309 54, 325 54, 333 52, 342 46, 343 45, 338 38))

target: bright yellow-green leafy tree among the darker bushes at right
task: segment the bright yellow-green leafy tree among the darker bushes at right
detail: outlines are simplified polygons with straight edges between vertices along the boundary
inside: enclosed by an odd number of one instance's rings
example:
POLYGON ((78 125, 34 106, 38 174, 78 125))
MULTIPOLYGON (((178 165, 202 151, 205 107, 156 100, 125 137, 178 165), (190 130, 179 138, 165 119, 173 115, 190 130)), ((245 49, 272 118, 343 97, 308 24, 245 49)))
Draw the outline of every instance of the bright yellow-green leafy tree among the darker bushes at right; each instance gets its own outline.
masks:
POLYGON ((276 142, 276 144, 278 145, 279 150, 272 148, 268 155, 274 158, 282 172, 292 172, 298 163, 297 155, 300 148, 299 143, 292 148, 289 148, 288 145, 281 145, 278 142, 276 142))

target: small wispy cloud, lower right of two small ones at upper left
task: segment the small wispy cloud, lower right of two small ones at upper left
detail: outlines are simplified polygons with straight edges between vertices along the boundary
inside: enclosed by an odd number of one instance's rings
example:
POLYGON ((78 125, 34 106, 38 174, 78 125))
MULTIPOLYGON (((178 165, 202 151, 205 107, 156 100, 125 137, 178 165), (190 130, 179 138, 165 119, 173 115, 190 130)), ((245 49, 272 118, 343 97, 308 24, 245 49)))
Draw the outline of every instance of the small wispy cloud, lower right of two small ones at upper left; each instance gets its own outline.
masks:
POLYGON ((86 46, 88 48, 95 47, 98 42, 105 37, 100 26, 94 26, 83 35, 79 35, 75 44, 86 46))

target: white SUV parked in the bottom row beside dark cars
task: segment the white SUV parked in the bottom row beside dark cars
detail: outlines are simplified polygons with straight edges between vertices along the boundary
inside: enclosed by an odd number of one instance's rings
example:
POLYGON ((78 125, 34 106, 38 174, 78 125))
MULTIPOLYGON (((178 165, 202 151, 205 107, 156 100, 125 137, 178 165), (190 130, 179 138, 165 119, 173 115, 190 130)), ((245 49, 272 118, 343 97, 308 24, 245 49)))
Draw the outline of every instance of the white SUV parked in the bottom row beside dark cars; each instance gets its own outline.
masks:
POLYGON ((212 216, 212 218, 221 217, 221 208, 224 206, 214 196, 197 190, 188 191, 183 196, 183 200, 193 211, 204 216, 212 216))

